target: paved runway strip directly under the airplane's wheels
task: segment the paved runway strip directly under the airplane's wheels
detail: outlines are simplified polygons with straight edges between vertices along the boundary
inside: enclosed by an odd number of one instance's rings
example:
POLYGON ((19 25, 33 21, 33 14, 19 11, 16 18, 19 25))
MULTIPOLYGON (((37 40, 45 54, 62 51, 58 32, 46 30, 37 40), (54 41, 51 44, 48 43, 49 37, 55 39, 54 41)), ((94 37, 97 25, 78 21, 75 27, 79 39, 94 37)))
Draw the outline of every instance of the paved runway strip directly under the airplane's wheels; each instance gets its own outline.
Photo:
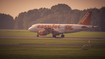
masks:
POLYGON ((86 37, 35 37, 35 36, 0 36, 0 38, 18 38, 18 39, 69 39, 69 40, 105 40, 105 38, 86 38, 86 37))

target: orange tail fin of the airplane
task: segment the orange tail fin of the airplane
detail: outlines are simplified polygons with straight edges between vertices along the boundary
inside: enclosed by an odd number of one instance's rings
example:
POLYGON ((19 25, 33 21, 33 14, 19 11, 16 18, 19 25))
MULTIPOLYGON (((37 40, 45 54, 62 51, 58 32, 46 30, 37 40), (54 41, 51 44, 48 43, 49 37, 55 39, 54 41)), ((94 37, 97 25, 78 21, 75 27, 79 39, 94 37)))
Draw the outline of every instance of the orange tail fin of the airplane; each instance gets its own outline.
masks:
POLYGON ((82 20, 78 23, 78 25, 89 25, 92 11, 86 13, 86 15, 82 18, 82 20))

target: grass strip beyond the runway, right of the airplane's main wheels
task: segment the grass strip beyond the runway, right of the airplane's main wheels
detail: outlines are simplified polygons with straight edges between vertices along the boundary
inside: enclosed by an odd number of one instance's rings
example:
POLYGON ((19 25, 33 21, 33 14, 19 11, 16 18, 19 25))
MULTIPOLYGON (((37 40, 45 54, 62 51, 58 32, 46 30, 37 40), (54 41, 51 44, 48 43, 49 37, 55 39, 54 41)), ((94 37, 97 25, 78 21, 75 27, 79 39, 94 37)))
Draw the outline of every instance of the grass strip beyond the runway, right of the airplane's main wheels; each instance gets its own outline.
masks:
POLYGON ((67 34, 66 37, 93 37, 93 38, 105 38, 105 32, 77 32, 67 34))

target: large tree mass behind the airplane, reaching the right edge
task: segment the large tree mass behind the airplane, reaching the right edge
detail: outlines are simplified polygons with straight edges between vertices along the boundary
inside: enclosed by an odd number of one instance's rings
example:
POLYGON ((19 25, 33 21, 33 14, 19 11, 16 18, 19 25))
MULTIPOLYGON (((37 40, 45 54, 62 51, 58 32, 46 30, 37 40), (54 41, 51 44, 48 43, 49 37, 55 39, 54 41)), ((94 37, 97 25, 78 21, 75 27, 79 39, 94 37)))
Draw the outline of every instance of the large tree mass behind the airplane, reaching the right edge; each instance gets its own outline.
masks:
POLYGON ((13 26, 14 29, 28 29, 31 25, 37 23, 77 24, 88 11, 92 11, 90 25, 98 26, 98 28, 89 29, 88 31, 105 32, 105 7, 72 10, 66 4, 54 5, 51 9, 40 8, 21 12, 15 17, 13 26))

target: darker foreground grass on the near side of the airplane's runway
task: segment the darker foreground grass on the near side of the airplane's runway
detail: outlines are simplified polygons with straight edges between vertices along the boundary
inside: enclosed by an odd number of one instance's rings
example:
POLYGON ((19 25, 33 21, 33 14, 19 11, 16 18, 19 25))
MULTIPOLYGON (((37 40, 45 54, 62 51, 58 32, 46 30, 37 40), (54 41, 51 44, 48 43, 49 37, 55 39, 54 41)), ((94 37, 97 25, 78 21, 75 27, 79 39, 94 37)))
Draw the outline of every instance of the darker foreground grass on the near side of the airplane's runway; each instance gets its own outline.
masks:
MULTIPOLYGON (((68 39, 8 39, 1 38, 0 44, 71 44, 83 45, 88 40, 68 39)), ((105 45, 105 40, 91 40, 92 45, 105 45)), ((3 46, 0 45, 1 59, 104 59, 105 46, 3 46)))

